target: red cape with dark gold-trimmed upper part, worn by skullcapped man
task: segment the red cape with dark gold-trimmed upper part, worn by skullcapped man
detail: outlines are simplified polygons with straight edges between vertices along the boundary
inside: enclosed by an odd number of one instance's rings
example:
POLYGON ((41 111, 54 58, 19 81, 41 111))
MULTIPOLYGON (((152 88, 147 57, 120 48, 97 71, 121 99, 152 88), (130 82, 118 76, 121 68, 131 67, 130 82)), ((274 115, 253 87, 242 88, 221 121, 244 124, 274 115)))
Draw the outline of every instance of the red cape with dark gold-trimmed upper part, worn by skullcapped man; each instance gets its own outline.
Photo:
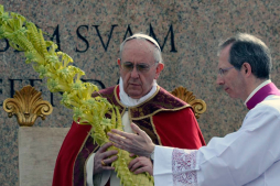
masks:
MULTIPOLYGON (((121 103, 119 86, 99 92, 118 106, 121 114, 128 109, 132 122, 146 131, 155 144, 193 150, 205 145, 192 107, 160 86, 151 98, 131 108, 121 103)), ((73 122, 56 160, 53 186, 86 185, 86 161, 99 147, 89 136, 90 128, 73 122)))

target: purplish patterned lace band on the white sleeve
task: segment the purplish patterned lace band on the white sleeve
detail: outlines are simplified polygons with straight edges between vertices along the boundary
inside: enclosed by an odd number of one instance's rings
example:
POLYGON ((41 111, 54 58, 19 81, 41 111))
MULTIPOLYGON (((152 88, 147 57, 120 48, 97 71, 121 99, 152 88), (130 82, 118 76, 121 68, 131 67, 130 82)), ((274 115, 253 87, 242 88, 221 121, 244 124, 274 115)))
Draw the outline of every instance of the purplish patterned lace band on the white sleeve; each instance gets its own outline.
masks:
POLYGON ((173 150, 172 173, 174 186, 197 186, 196 153, 197 151, 173 150))

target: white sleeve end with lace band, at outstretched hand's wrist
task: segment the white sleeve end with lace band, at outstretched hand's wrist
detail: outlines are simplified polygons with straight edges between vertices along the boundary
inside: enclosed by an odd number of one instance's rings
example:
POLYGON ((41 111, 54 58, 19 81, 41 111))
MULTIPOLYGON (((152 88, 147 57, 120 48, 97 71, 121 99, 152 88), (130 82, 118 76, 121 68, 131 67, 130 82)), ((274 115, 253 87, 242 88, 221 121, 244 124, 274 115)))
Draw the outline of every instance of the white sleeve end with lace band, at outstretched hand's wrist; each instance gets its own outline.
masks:
POLYGON ((155 186, 197 185, 197 150, 155 145, 153 176, 155 186))

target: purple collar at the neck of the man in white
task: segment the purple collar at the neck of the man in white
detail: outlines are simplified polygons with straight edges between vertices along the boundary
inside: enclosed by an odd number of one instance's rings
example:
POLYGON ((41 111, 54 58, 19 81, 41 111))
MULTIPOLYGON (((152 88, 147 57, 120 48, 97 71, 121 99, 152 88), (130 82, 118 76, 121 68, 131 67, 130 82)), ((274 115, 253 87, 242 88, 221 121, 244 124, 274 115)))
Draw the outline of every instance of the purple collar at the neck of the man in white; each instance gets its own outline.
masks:
POLYGON ((263 101, 266 97, 269 95, 280 96, 279 89, 276 87, 273 83, 266 85, 265 87, 260 88, 246 103, 247 108, 251 110, 255 108, 259 102, 263 101))

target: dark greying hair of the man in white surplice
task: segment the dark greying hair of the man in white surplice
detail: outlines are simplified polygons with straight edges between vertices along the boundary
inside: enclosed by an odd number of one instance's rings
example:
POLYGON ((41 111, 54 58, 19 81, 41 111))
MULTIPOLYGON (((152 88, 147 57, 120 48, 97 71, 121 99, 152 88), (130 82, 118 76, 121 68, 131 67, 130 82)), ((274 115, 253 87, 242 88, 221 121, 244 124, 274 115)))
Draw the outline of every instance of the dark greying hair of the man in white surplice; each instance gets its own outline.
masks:
POLYGON ((260 79, 269 79, 272 68, 271 54, 267 45, 259 39, 247 33, 239 33, 219 44, 219 51, 230 45, 228 62, 236 68, 244 63, 251 66, 251 73, 260 79))

